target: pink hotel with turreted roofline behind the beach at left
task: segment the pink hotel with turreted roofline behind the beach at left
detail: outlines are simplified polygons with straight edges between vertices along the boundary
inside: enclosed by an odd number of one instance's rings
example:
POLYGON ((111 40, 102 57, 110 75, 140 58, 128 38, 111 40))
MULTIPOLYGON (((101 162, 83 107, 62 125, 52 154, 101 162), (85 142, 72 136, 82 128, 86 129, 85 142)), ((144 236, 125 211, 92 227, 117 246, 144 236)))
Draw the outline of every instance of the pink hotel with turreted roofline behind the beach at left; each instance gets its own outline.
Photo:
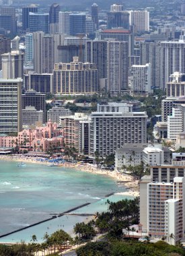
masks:
POLYGON ((49 120, 44 127, 36 129, 24 129, 17 136, 0 135, 0 147, 26 146, 36 152, 46 152, 51 146, 61 146, 63 143, 63 131, 57 129, 57 123, 49 120))

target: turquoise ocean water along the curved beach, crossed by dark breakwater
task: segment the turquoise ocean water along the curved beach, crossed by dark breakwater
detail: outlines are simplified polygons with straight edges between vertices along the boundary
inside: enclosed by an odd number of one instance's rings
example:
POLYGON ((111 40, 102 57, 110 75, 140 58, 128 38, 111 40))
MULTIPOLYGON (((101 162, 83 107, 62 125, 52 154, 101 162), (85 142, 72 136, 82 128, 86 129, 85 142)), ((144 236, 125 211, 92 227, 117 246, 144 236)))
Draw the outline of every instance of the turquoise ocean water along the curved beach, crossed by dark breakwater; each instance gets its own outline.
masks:
MULTIPOLYGON (((100 174, 80 172, 73 168, 48 167, 0 161, 0 235, 29 226, 60 214, 83 203, 91 203, 75 212, 94 214, 107 210, 106 200, 118 201, 121 195, 105 197, 124 191, 116 182, 100 174)), ((0 238, 1 242, 29 242, 36 234, 38 242, 45 232, 59 228, 72 232, 84 216, 62 216, 37 226, 0 238)))

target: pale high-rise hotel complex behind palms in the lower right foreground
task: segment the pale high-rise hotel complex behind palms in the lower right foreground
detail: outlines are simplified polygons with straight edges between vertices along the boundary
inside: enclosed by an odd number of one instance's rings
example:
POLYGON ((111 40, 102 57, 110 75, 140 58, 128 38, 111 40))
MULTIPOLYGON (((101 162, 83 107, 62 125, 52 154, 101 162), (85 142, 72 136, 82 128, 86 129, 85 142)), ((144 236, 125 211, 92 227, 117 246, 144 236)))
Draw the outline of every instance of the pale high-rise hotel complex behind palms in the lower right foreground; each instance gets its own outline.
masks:
POLYGON ((173 154, 172 164, 151 166, 140 181, 140 223, 143 232, 175 245, 184 238, 184 158, 173 154), (173 234, 173 237, 171 236, 173 234))

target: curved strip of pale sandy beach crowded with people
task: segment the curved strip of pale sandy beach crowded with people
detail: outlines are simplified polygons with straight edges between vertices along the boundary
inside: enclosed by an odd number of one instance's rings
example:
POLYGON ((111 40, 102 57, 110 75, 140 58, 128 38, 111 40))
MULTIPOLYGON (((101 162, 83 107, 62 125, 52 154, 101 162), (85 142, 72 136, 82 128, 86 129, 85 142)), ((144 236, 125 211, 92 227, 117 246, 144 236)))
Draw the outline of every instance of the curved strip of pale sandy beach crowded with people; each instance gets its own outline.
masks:
MULTIPOLYGON (((15 161, 15 162, 24 162, 30 164, 45 164, 48 165, 49 162, 40 161, 38 157, 30 157, 24 155, 9 155, 9 156, 0 156, 0 160, 5 161, 15 161)), ((132 196, 139 196, 139 181, 133 179, 133 177, 129 174, 121 173, 115 170, 104 170, 102 168, 98 168, 95 164, 81 164, 81 163, 71 163, 71 162, 64 162, 57 166, 65 167, 65 168, 75 168, 75 170, 83 171, 83 172, 91 172, 93 174, 101 174, 112 177, 115 179, 120 187, 128 188, 126 191, 119 193, 120 195, 132 195, 132 196)))

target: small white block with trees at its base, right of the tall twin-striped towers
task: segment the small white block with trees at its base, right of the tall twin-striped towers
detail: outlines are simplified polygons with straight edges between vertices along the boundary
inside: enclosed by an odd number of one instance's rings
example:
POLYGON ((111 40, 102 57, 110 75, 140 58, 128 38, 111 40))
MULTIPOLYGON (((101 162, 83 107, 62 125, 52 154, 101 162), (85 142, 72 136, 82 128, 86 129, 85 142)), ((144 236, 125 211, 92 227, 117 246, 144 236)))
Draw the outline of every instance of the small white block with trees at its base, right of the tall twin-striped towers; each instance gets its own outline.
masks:
POLYGON ((131 93, 147 95, 151 92, 151 65, 133 65, 131 67, 131 93))

